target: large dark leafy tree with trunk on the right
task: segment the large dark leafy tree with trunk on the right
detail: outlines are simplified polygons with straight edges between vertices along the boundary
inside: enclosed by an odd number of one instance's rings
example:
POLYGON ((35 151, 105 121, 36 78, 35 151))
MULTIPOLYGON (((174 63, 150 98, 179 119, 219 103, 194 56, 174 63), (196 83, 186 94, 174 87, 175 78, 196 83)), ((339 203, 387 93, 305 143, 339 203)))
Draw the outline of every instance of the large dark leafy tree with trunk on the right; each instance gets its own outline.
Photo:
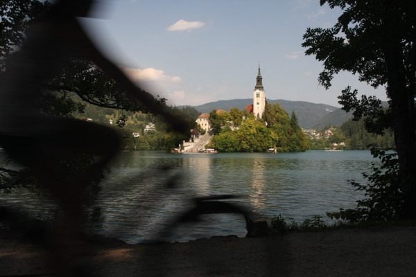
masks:
POLYGON ((347 87, 339 103, 354 118, 365 117, 365 128, 377 134, 392 128, 404 192, 404 211, 416 217, 416 2, 413 0, 321 0, 321 6, 340 8, 342 15, 332 28, 308 28, 302 46, 306 55, 323 62, 319 82, 331 86, 340 71, 357 74, 372 87, 383 86, 388 109, 374 96, 362 96, 347 87))

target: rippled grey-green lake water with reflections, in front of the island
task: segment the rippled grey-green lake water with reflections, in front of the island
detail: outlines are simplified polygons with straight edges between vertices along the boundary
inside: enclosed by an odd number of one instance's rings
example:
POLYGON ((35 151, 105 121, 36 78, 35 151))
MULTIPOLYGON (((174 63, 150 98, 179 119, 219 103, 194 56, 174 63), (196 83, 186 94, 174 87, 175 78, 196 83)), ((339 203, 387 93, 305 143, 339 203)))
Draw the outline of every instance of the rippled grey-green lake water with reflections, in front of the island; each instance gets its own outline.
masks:
MULTIPOLYGON (((0 153, 3 155, 3 153, 0 153)), ((0 157, 1 158, 1 157, 0 157)), ((354 208, 363 195, 349 179, 362 181, 370 151, 232 154, 121 152, 89 208, 94 233, 128 243, 187 241, 212 235, 245 236, 241 215, 205 215, 198 224, 173 225, 193 197, 236 195, 223 200, 243 206, 255 219, 275 215, 301 222, 327 211, 354 208)), ((0 201, 45 215, 53 204, 26 190, 1 194, 0 201)))

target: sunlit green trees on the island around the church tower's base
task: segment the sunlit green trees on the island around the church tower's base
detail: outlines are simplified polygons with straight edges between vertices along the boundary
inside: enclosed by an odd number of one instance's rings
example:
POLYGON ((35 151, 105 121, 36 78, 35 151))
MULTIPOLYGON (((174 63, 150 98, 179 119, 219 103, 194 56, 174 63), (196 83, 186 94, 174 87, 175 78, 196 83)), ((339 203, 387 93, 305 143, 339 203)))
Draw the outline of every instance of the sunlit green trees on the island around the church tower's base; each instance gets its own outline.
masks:
POLYGON ((244 114, 235 107, 219 114, 213 110, 209 120, 216 134, 209 147, 219 152, 266 152, 269 148, 296 152, 309 149, 309 141, 297 124, 296 115, 293 113, 292 119, 289 118, 277 102, 266 104, 263 119, 244 114))

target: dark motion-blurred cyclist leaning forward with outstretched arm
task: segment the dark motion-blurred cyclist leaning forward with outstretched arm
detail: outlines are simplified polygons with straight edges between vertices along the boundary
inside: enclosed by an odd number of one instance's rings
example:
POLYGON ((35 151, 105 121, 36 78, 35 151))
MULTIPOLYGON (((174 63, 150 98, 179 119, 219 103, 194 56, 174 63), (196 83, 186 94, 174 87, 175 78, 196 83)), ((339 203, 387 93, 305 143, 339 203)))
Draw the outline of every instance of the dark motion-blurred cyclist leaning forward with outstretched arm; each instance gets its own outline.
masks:
MULTIPOLYGON (((83 233, 80 197, 116 155, 120 141, 110 128, 41 114, 44 83, 60 73, 68 59, 88 60, 148 111, 163 116, 176 131, 187 127, 150 93, 136 87, 89 39, 77 17, 88 17, 94 2, 98 1, 55 1, 35 20, 21 48, 8 57, 0 82, 0 145, 13 160, 29 168, 62 207, 64 222, 55 232, 60 238, 55 236, 51 245, 58 249, 52 255, 57 271, 67 276, 79 275, 68 256, 73 253, 73 242, 83 233), (87 170, 69 174, 66 163, 83 154, 94 155, 96 162, 87 170)), ((2 215, 7 217, 8 213, 2 215)))

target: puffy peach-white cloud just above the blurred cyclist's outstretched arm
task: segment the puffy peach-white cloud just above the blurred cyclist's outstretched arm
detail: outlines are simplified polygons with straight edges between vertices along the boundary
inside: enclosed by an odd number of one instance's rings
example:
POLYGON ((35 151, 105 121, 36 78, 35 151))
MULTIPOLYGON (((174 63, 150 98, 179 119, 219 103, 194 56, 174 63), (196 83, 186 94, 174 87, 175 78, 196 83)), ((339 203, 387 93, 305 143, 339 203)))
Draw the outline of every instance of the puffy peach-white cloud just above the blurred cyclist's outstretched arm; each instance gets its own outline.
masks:
POLYGON ((132 81, 151 81, 151 82, 174 82, 180 83, 182 79, 179 76, 168 76, 162 69, 132 69, 124 68, 123 71, 132 81))

